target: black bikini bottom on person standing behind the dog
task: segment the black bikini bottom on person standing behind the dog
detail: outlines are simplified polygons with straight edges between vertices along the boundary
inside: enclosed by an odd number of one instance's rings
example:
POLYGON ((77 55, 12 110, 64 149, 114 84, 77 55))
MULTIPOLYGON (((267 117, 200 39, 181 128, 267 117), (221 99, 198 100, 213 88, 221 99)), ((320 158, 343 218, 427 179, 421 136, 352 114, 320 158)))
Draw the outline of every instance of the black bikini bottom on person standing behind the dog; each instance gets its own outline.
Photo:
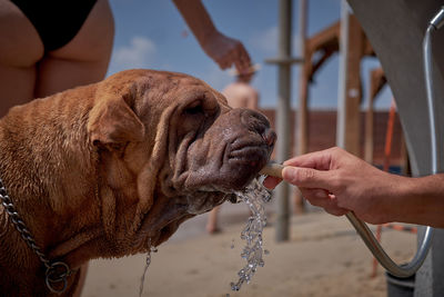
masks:
POLYGON ((56 50, 71 41, 97 0, 11 0, 32 22, 44 50, 56 50))

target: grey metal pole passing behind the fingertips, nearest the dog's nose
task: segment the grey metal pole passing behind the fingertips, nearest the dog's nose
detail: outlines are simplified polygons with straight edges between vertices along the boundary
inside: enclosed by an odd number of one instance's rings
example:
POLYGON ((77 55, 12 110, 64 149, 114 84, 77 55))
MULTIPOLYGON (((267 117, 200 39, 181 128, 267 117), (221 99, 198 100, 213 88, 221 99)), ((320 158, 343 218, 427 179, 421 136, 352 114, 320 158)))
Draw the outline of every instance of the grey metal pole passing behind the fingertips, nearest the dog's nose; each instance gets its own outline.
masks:
MULTIPOLYGON (((292 24, 292 0, 280 1, 280 36, 279 36, 279 58, 289 60, 291 57, 291 24, 292 24)), ((278 161, 283 162, 290 158, 290 82, 291 63, 279 63, 279 98, 278 98, 278 161)), ((286 182, 281 182, 276 188, 276 241, 289 240, 290 211, 289 192, 290 187, 286 182)))

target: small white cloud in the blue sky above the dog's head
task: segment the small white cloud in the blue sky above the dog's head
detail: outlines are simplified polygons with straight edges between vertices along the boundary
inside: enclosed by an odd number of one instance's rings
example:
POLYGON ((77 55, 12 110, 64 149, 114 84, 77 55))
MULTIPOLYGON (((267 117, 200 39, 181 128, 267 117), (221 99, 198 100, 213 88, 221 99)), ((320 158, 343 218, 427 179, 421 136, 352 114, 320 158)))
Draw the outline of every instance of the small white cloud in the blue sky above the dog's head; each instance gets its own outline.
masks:
POLYGON ((144 68, 154 59, 155 43, 145 37, 133 37, 129 46, 117 48, 113 60, 119 68, 144 68))

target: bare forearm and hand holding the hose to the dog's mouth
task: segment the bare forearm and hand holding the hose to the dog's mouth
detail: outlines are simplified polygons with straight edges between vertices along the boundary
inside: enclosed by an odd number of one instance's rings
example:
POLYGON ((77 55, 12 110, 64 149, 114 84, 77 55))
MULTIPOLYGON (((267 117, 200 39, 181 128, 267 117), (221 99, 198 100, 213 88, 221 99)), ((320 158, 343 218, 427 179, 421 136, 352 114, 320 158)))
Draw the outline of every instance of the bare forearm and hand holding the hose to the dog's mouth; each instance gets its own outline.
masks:
MULTIPOLYGON (((312 205, 336 216, 353 210, 371 224, 402 221, 444 227, 444 175, 408 178, 391 175, 340 148, 284 162, 283 178, 312 205)), ((280 182, 268 178, 269 188, 280 182)))

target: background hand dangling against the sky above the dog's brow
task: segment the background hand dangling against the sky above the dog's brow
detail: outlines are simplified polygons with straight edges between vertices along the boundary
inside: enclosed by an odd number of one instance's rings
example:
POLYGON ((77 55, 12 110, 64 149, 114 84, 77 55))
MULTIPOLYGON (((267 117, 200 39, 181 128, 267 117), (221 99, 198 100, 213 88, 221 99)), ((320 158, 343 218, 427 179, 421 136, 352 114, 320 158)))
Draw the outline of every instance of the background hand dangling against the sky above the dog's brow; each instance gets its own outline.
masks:
POLYGON ((205 39, 202 49, 221 69, 228 69, 234 65, 236 70, 243 73, 249 70, 251 65, 250 55, 244 46, 239 40, 218 31, 212 32, 205 39))

